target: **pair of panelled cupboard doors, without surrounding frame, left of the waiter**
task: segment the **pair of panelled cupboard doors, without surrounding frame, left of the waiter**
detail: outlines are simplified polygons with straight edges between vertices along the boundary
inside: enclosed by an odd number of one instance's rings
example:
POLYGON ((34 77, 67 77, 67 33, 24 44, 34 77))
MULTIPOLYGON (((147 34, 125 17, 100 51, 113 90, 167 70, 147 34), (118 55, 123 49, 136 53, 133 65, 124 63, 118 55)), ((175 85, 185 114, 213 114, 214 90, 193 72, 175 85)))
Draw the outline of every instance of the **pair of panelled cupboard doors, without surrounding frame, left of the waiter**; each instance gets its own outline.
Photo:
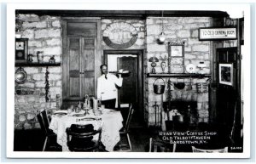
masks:
POLYGON ((94 37, 67 37, 67 99, 95 95, 95 48, 94 37))

